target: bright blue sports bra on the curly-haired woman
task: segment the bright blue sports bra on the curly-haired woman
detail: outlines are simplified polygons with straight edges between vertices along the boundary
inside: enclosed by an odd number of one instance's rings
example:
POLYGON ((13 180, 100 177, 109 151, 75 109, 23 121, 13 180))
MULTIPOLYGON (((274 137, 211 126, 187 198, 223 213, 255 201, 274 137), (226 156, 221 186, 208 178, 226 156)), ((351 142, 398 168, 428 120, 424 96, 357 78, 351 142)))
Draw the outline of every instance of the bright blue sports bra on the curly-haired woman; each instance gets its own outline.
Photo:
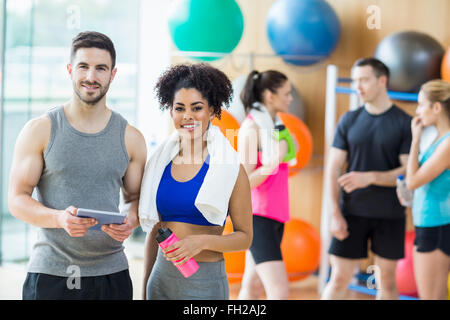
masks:
POLYGON ((195 207, 195 199, 209 169, 209 155, 200 171, 189 181, 176 181, 171 174, 172 161, 164 169, 156 193, 156 207, 161 221, 178 221, 201 226, 215 226, 195 207))

